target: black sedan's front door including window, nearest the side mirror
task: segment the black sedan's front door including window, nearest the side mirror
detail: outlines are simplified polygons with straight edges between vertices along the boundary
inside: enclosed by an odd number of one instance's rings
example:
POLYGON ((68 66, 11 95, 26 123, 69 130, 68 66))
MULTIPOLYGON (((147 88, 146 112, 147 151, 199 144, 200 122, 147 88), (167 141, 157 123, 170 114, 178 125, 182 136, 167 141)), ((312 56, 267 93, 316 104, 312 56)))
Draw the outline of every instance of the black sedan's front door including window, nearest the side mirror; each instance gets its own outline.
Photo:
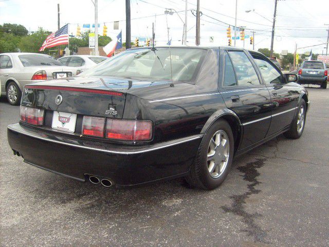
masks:
POLYGON ((267 136, 273 135, 289 126, 298 106, 299 91, 296 83, 286 83, 281 71, 265 56, 250 52, 258 65, 263 81, 267 86, 271 100, 271 125, 267 136))

